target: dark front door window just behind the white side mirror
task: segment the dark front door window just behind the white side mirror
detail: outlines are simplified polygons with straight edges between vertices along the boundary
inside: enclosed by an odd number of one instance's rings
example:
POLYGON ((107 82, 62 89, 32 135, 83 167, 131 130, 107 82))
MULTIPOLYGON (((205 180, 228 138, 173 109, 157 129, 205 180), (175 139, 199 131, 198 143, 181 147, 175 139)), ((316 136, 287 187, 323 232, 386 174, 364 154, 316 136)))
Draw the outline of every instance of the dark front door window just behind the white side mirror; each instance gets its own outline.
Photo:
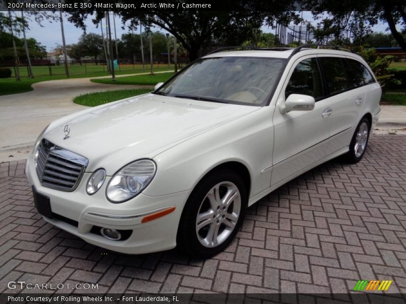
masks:
POLYGON ((309 58, 296 65, 285 90, 285 98, 290 94, 304 94, 315 99, 322 96, 319 67, 315 58, 309 58))

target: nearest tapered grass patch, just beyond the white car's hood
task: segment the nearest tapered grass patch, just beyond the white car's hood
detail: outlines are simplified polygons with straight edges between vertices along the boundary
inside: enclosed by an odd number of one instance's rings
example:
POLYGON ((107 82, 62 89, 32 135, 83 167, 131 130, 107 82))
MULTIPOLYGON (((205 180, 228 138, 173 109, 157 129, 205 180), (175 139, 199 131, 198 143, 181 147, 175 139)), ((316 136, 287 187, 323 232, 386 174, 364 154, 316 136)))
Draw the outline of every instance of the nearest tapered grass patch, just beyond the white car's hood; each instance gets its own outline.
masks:
POLYGON ((107 102, 112 102, 132 96, 149 93, 151 91, 152 91, 151 89, 130 89, 130 90, 95 92, 76 96, 73 99, 73 102, 81 105, 96 106, 100 104, 105 104, 107 102))

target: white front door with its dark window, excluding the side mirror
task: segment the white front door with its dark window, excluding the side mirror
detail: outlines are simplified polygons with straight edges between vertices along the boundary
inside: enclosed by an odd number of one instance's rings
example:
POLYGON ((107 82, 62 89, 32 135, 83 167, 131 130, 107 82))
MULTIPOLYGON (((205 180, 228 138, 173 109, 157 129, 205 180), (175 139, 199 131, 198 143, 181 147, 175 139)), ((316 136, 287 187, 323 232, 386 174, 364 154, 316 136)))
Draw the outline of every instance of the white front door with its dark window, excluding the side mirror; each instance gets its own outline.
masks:
POLYGON ((326 145, 331 123, 331 104, 322 99, 323 86, 317 59, 305 56, 292 66, 274 113, 274 153, 271 186, 280 185, 298 172, 327 156, 326 145), (315 108, 282 114, 279 103, 290 94, 313 96, 315 108))

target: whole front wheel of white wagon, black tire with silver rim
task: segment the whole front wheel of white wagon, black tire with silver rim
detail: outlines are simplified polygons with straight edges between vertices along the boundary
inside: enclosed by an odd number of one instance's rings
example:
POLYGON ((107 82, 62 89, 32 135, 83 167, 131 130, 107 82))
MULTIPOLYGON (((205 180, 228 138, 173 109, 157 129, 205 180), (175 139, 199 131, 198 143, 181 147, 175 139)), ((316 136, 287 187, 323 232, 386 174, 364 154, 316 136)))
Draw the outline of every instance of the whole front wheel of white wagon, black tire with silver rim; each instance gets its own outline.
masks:
POLYGON ((229 169, 209 173, 186 201, 179 223, 178 249, 204 258, 221 252, 239 231, 247 204, 241 176, 229 169))

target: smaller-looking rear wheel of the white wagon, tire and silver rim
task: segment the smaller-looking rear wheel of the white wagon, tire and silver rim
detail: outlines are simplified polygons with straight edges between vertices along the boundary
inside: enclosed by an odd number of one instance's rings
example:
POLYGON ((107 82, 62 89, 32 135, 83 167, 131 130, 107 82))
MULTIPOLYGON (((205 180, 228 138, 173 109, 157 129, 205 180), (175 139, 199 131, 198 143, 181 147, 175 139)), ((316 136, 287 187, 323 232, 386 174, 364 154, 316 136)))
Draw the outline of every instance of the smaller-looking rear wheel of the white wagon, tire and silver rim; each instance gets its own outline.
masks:
POLYGON ((344 155, 344 160, 348 163, 358 163, 364 156, 368 144, 370 123, 363 117, 355 129, 350 143, 350 150, 344 155))

